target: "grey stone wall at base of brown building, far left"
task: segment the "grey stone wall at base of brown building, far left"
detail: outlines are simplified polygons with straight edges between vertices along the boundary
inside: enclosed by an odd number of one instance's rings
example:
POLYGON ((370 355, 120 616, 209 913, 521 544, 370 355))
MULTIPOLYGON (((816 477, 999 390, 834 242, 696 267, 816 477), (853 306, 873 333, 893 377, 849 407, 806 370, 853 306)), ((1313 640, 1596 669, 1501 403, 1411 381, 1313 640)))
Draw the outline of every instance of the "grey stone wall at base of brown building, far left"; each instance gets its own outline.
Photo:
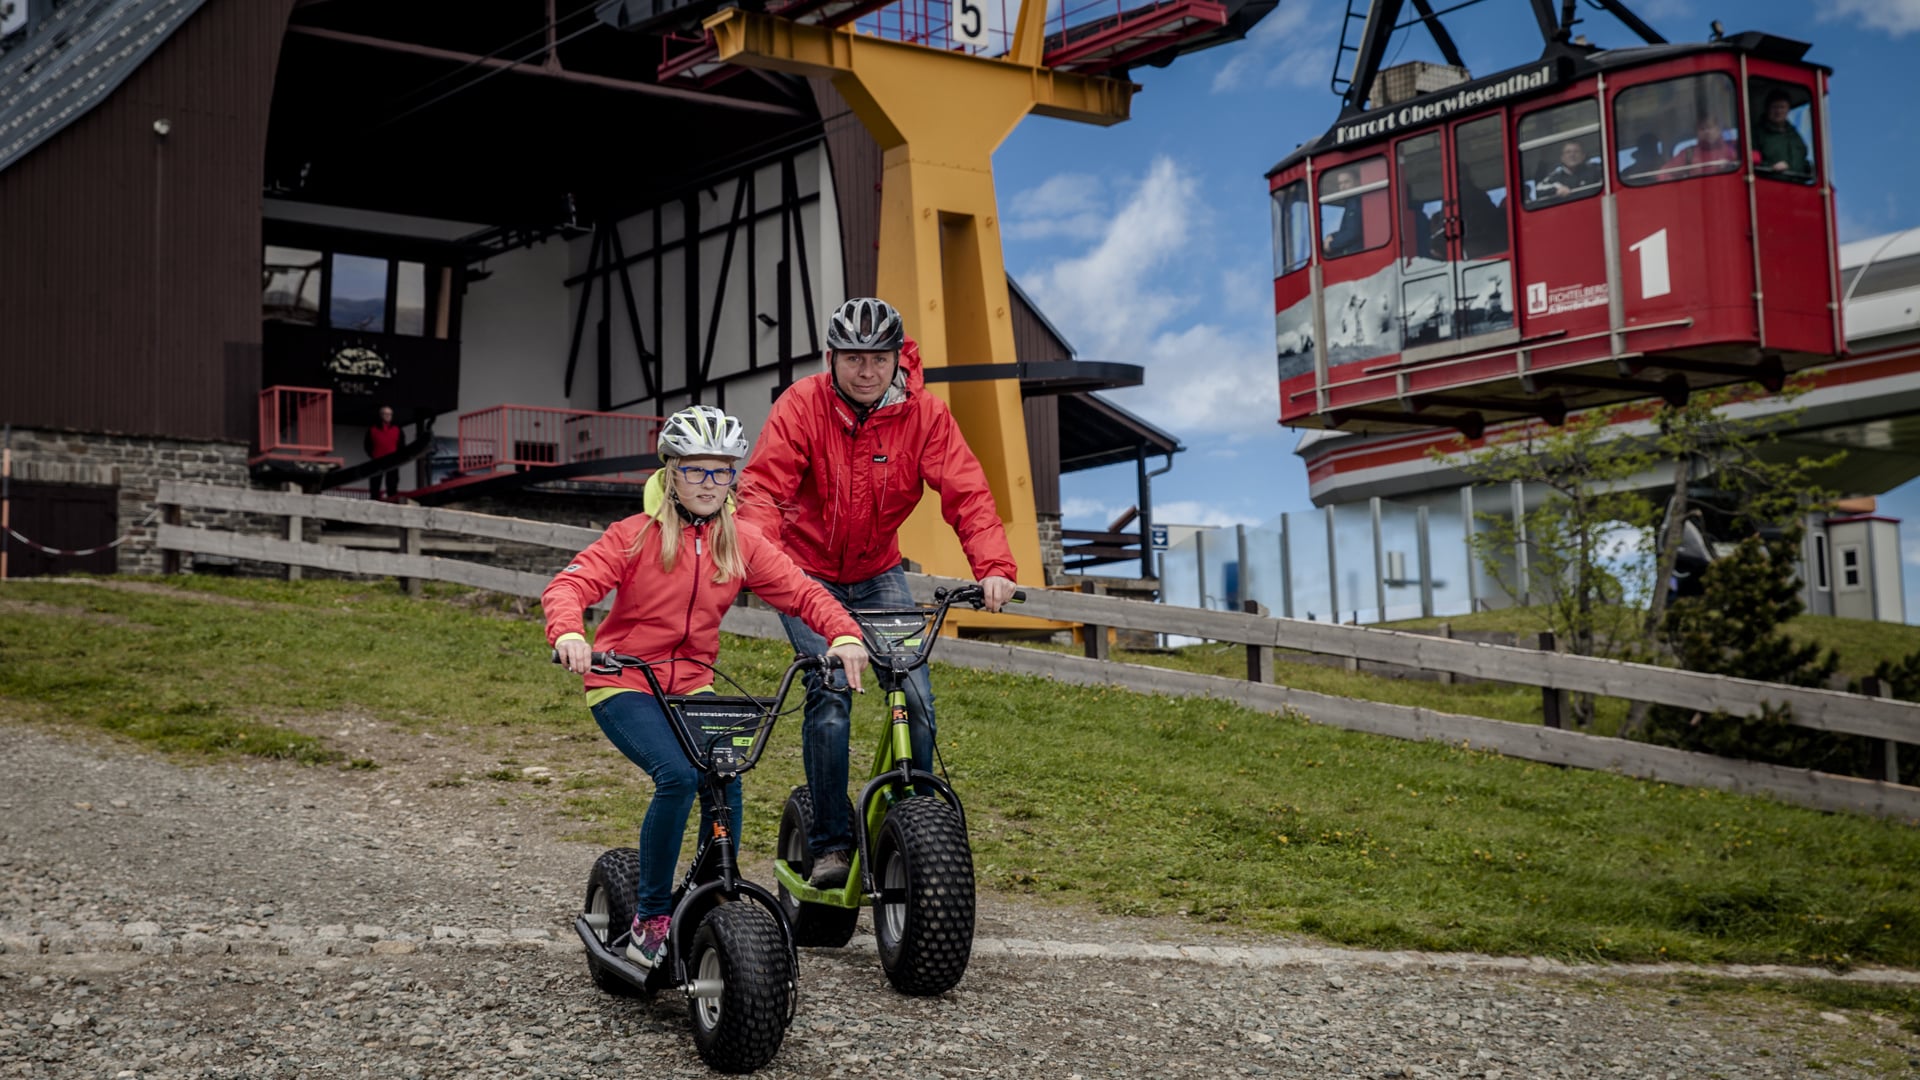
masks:
MULTIPOLYGON (((119 573, 159 573, 154 546, 159 519, 154 496, 161 480, 246 486, 248 448, 232 442, 182 442, 125 434, 79 434, 13 429, 13 479, 42 484, 117 488, 119 573)), ((209 528, 244 528, 225 511, 186 511, 182 523, 209 528)), ((108 538, 102 538, 108 540, 108 538)))

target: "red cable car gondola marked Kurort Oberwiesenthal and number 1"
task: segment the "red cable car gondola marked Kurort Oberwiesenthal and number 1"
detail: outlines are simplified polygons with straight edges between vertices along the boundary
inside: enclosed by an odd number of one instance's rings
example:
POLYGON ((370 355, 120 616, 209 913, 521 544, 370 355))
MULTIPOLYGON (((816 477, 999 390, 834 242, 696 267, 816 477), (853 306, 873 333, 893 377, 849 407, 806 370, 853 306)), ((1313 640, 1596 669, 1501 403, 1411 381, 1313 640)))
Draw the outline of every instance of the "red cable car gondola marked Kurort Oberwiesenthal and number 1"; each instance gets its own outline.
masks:
POLYGON ((1361 108, 1402 6, 1375 0, 1340 121, 1267 173, 1281 423, 1478 436, 1845 350, 1809 46, 1667 44, 1601 0, 1647 44, 1599 50, 1532 4, 1534 63, 1361 108))

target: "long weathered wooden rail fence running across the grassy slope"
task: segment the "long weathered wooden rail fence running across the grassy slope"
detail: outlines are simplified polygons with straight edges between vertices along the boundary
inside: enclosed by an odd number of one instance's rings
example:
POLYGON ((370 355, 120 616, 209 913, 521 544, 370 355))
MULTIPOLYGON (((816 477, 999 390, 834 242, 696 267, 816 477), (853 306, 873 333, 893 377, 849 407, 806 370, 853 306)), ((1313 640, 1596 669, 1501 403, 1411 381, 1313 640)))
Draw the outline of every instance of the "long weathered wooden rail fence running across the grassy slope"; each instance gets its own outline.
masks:
MULTIPOLYGON (((156 502, 163 515, 159 548, 167 553, 169 561, 188 552, 209 553, 351 575, 445 580, 511 596, 540 596, 540 590, 549 580, 547 575, 424 555, 420 553, 420 532, 455 532, 536 544, 561 552, 578 552, 599 536, 591 528, 484 513, 205 484, 161 484, 156 502), (288 519, 290 536, 300 536, 298 521, 307 517, 388 527, 401 532, 403 550, 397 553, 348 550, 328 544, 309 544, 298 538, 280 540, 275 536, 186 527, 180 525, 184 507, 280 515, 288 519)), ((935 588, 962 582, 908 575, 908 584, 916 598, 929 600, 935 588)), ((1248 650, 1250 678, 1192 675, 1160 667, 1114 663, 1098 657, 1073 657, 1056 651, 966 640, 943 642, 941 659, 962 667, 1039 675, 1073 684, 1117 686, 1146 694, 1210 696, 1265 711, 1292 709, 1315 723, 1371 734, 1469 744, 1528 761, 1607 769, 1630 776, 1732 792, 1764 792, 1818 809, 1920 821, 1920 788, 1891 782, 1891 776, 1897 774, 1893 773, 1897 763, 1895 746, 1920 744, 1920 703, 1515 646, 1332 623, 1302 623, 1298 619, 1271 619, 1265 615, 1169 607, 1081 592, 1029 588, 1027 603, 1020 607, 1020 615, 1085 625, 1089 628, 1089 651, 1104 651, 1108 626, 1238 644, 1248 650), (1292 690, 1271 682, 1273 650, 1300 650, 1356 661, 1467 675, 1540 686, 1548 692, 1592 692, 1703 713, 1728 711, 1751 715, 1763 705, 1791 705, 1795 724, 1885 740, 1889 780, 1834 776, 1809 769, 1736 761, 1549 726, 1515 724, 1292 690)), ((772 613, 747 607, 730 611, 724 626, 749 636, 783 636, 772 613)))

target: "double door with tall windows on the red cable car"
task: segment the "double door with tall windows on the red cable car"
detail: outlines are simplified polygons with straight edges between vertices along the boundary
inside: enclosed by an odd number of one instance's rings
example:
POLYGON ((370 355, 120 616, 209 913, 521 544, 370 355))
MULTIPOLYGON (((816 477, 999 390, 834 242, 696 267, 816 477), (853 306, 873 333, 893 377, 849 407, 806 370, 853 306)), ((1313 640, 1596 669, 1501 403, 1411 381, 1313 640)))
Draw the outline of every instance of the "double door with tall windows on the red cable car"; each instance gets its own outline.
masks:
POLYGON ((1400 140, 1400 313, 1407 359, 1513 331, 1507 135, 1488 115, 1400 140), (1438 346, 1438 348, 1434 348, 1438 346))

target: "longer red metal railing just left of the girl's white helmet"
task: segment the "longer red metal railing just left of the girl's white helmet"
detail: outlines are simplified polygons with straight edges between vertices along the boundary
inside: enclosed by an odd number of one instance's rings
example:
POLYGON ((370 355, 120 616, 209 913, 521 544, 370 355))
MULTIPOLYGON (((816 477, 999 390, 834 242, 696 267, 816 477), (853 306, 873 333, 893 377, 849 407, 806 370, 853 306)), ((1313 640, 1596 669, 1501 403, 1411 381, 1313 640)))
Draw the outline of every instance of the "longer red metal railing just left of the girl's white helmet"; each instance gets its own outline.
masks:
MULTIPOLYGON (((459 471, 465 477, 501 469, 545 469, 655 454, 662 417, 588 413, 540 405, 493 405, 461 415, 459 471)), ((653 469, 578 480, 643 484, 653 469)))

